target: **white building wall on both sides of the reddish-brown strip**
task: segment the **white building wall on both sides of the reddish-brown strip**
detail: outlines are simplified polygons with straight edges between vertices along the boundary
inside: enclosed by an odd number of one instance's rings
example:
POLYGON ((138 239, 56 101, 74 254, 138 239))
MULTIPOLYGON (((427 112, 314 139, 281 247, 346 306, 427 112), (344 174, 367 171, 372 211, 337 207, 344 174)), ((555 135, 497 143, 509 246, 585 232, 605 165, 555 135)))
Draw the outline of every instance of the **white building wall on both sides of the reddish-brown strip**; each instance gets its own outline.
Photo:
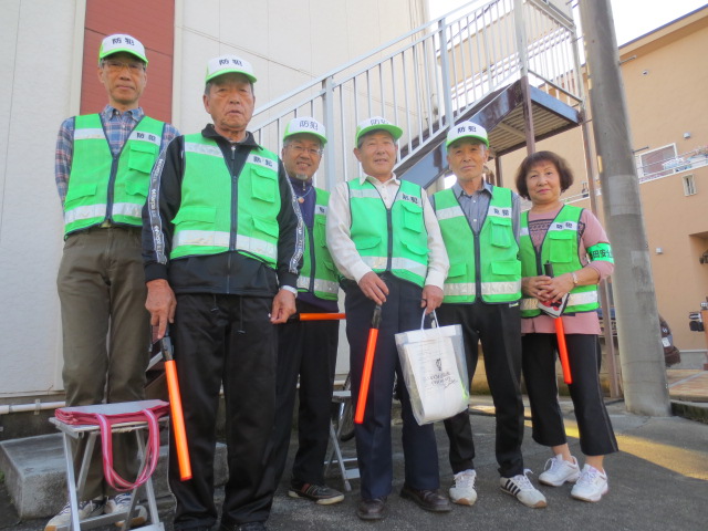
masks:
MULTIPOLYGON (((0 403, 18 403, 62 391, 54 146, 62 121, 79 112, 86 0, 1 6, 0 403)), ((121 0, 105 7, 125 9, 121 0)), ((258 106, 426 20, 427 0, 175 0, 173 123, 192 133, 209 122, 201 94, 212 56, 253 64, 258 106)))

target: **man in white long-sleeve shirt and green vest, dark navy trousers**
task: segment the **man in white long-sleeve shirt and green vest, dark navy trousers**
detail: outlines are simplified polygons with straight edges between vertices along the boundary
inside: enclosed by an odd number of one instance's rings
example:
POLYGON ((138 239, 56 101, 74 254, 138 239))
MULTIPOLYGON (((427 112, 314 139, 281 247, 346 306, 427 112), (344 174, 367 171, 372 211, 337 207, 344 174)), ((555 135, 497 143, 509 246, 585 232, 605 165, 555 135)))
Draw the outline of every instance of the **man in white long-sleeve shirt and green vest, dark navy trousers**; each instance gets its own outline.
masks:
POLYGON ((400 496, 423 509, 450 510, 438 493, 439 470, 433 425, 419 426, 403 385, 394 335, 420 326, 423 312, 442 301, 447 254, 428 197, 393 171, 402 129, 381 117, 356 129, 354 155, 364 175, 341 183, 330 201, 327 247, 345 277, 346 335, 351 347, 352 399, 362 382, 367 332, 375 306, 382 308, 371 388, 363 424, 355 426, 363 520, 384 517, 392 490, 391 402, 394 377, 403 407, 406 460, 400 496), (425 309, 425 310, 423 310, 425 309))

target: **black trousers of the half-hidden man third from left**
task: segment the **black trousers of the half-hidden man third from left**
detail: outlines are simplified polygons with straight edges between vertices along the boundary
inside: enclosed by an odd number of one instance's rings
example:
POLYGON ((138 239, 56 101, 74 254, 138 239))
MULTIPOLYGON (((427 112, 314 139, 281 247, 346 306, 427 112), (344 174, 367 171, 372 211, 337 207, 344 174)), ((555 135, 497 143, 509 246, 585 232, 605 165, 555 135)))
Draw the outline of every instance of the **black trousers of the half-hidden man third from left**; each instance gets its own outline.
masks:
MULTIPOLYGON (((298 301, 300 313, 321 311, 312 304, 298 301)), ((275 488, 288 459, 295 393, 300 398, 299 446, 292 477, 305 483, 324 483, 323 464, 330 439, 339 335, 339 321, 295 321, 278 326, 275 442, 271 460, 275 469, 275 488)))

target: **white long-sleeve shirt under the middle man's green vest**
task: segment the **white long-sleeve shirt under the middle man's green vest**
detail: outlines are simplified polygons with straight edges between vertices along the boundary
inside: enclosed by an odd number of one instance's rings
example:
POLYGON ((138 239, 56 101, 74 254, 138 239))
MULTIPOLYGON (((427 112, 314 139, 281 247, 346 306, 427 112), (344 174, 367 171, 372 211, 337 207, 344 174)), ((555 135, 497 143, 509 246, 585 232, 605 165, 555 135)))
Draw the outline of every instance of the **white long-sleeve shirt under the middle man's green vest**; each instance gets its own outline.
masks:
MULTIPOLYGON (((391 208, 400 188, 400 180, 396 174, 392 174, 392 178, 382 183, 375 177, 360 177, 360 184, 368 180, 381 194, 386 208, 391 208)), ((423 220, 428 233, 428 272, 426 274, 425 284, 435 285, 442 289, 447 271, 450 262, 447 258, 440 226, 435 217, 433 207, 425 189, 421 190, 423 196, 423 220)), ((372 269, 364 263, 362 257, 356 250, 356 246, 351 237, 352 211, 350 209, 350 189, 346 183, 340 183, 334 192, 330 196, 330 205, 327 208, 327 248, 334 263, 340 272, 350 280, 358 281, 372 269)), ((395 238, 395 235, 394 235, 395 238)))

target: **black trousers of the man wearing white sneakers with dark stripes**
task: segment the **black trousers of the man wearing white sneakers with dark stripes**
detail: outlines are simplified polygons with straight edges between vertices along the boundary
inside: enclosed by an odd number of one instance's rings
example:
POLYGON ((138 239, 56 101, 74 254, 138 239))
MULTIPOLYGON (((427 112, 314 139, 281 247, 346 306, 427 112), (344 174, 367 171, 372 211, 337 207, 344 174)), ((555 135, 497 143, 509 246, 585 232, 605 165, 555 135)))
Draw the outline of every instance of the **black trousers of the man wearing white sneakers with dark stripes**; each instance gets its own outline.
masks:
MULTIPOLYGON (((510 478, 523 473, 523 400, 521 399, 521 317, 519 305, 442 304, 440 324, 460 324, 465 339, 467 371, 471 383, 477 368, 477 343, 482 343, 487 383, 494 403, 497 438, 494 450, 499 473, 510 478)), ((467 410, 445 420, 450 439, 452 472, 473 469, 475 442, 467 410)))

